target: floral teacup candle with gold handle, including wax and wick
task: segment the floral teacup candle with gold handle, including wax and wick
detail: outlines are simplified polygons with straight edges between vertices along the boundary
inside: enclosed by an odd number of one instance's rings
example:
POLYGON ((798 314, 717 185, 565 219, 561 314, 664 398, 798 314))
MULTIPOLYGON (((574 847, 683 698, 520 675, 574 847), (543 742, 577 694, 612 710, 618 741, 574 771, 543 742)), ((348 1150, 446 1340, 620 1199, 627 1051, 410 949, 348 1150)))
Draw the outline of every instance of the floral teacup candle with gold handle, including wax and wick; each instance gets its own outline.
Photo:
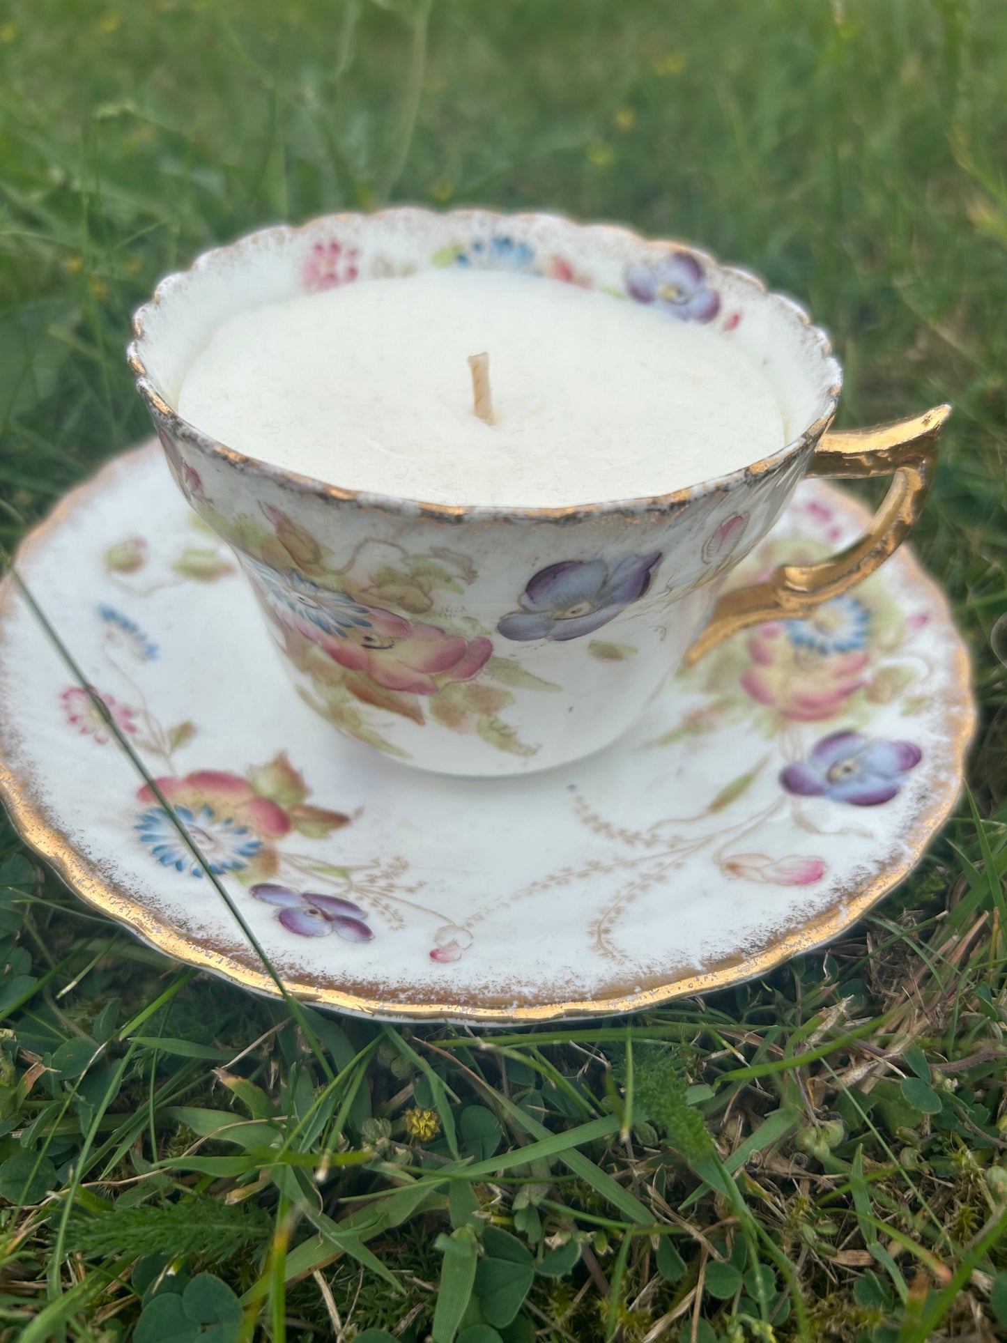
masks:
POLYGON ((452 774, 599 749, 683 659, 873 572, 948 414, 827 432, 839 367, 792 302, 548 215, 267 230, 164 281, 134 325, 175 478, 301 697, 452 774), (721 592, 806 471, 896 478, 858 544, 721 592))

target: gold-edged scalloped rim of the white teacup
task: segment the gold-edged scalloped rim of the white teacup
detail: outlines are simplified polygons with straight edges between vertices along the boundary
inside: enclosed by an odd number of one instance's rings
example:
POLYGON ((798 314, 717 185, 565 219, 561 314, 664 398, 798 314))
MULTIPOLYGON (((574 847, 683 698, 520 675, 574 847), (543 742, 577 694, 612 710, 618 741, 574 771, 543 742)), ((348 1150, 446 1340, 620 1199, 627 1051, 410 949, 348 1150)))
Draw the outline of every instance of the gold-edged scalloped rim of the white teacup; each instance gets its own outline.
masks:
POLYGON ((804 309, 796 304, 792 298, 787 298, 783 294, 771 291, 767 285, 752 275, 747 270, 741 270, 733 266, 722 266, 714 257, 702 248, 693 247, 689 243, 679 242, 671 238, 644 238, 642 234, 634 232, 631 228, 623 228, 618 224, 583 224, 577 220, 569 219, 564 215, 552 215, 541 212, 524 212, 524 214, 504 214, 502 211, 493 210, 452 210, 447 212, 438 212, 432 210, 422 210, 416 205, 400 205, 392 207, 389 210, 375 211, 373 214, 360 214, 353 211, 344 211, 336 215, 322 215, 317 219, 307 220, 303 224, 277 224, 273 228, 262 228, 254 234, 247 234, 244 238, 239 238, 234 243, 228 243, 226 247, 215 247, 209 251, 199 255, 192 265, 184 271, 176 271, 172 275, 166 275, 154 289, 150 299, 144 304, 133 314, 133 332, 136 340, 133 340, 126 349, 126 363, 130 369, 136 373, 137 391, 144 398, 148 410, 154 420, 154 424, 162 423, 168 432, 180 441, 195 447, 197 451, 205 453, 209 457, 216 457, 223 462, 227 462, 235 467, 242 474, 258 475, 263 479, 273 481, 275 485, 281 485, 286 489, 295 490, 298 494, 305 494, 313 498, 330 500, 338 504, 349 504, 363 509, 380 509, 387 513, 400 513, 407 517, 422 517, 430 518, 438 522, 459 522, 462 520, 471 521, 529 521, 529 522, 572 522, 583 517, 595 517, 604 514, 620 514, 620 513, 663 513, 669 509, 679 508, 687 500, 700 498, 713 490, 733 489, 748 481, 759 479, 777 469, 780 469, 787 461, 798 457, 802 451, 810 449, 818 439, 824 434, 828 426, 832 423, 835 416, 836 402, 839 399, 839 391, 842 388, 842 368, 832 355, 832 346, 828 336, 822 330, 820 326, 815 326, 804 309), (289 236, 302 232, 309 232, 321 226, 336 226, 338 223, 358 222, 358 220, 401 220, 401 219, 457 219, 459 224, 471 222, 473 219, 493 222, 494 226, 501 220, 555 220, 565 228, 580 230, 583 232, 603 232, 610 236, 618 236, 630 240, 634 246, 640 248, 651 250, 666 250, 669 247, 682 248, 691 255, 700 258, 704 265, 713 267, 724 275, 730 275, 732 278, 748 285, 755 293, 768 295, 780 308, 789 312, 798 321, 808 330, 818 346, 819 355, 822 357, 823 365, 830 369, 830 376, 832 381, 824 396, 824 404, 822 407, 822 414, 811 424, 804 428, 798 438, 792 439, 789 443, 784 445, 777 453, 771 457, 763 458, 759 462, 753 462, 751 466, 740 467, 726 475, 717 477, 712 481, 704 481, 698 485, 690 485, 681 490, 674 490, 670 494, 655 494, 643 496, 640 498, 630 500, 612 500, 604 504, 572 504, 563 508, 509 508, 508 505, 450 505, 450 504, 430 504, 422 500, 410 500, 404 497, 397 497, 393 494, 375 494, 363 490, 348 490, 338 485, 326 485, 322 481, 316 481, 310 475, 301 475, 297 471, 290 471, 282 467, 271 466, 267 462, 260 462, 255 457, 247 457, 244 453, 239 453, 235 449, 227 447, 224 443, 218 442, 215 438, 200 432, 195 424, 183 419, 168 402, 157 392, 146 371, 146 365, 140 353, 140 342, 145 338, 144 332, 144 318, 146 313, 154 306, 157 306, 165 293, 165 289, 181 282, 185 275, 191 275, 195 271, 205 270, 212 266, 222 257, 235 252, 243 247, 254 247, 259 244, 266 238, 275 236, 289 236))

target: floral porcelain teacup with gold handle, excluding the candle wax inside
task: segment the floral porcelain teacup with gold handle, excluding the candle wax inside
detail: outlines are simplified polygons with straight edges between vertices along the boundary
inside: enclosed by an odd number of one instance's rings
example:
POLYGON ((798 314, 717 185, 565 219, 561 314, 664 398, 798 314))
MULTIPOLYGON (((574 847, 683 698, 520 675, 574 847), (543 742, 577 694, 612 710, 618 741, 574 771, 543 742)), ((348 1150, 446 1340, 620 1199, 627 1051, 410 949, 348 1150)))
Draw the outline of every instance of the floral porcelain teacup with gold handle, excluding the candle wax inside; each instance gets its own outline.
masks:
POLYGON ((454 775, 589 755, 720 639, 806 618, 874 572, 920 514, 949 414, 831 432, 841 368, 794 302, 679 243, 550 215, 397 208, 267 228, 164 279, 134 329, 129 363, 172 474, 234 548, 301 697, 342 733, 454 775), (787 445, 665 496, 467 506, 298 475, 176 412, 191 360, 239 312, 459 259, 704 321, 769 380, 787 445), (857 544, 721 592, 806 474, 894 479, 857 544))

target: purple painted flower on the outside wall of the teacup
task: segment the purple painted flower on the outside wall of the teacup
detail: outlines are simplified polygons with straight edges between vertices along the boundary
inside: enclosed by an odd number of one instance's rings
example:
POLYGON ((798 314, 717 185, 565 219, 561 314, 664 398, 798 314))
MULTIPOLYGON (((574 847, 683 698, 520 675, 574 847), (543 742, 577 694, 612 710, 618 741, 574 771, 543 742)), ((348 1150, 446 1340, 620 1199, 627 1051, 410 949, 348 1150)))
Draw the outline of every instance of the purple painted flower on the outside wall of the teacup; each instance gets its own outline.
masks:
POLYGON ((505 639, 579 639, 608 624, 650 587, 661 551, 607 560, 561 560, 538 569, 521 595, 521 610, 497 629, 505 639))

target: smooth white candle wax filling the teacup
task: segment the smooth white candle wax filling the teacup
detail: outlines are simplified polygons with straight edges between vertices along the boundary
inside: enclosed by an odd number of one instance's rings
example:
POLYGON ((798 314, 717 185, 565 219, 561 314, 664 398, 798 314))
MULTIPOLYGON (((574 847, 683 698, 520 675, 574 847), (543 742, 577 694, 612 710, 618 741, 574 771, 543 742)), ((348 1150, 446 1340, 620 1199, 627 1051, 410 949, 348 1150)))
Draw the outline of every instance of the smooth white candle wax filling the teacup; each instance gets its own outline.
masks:
POLYGON ((438 504, 666 494, 784 445, 769 384, 709 328, 461 269, 240 313, 193 360, 179 412, 275 466, 438 504), (491 423, 473 410, 483 351, 491 423))

